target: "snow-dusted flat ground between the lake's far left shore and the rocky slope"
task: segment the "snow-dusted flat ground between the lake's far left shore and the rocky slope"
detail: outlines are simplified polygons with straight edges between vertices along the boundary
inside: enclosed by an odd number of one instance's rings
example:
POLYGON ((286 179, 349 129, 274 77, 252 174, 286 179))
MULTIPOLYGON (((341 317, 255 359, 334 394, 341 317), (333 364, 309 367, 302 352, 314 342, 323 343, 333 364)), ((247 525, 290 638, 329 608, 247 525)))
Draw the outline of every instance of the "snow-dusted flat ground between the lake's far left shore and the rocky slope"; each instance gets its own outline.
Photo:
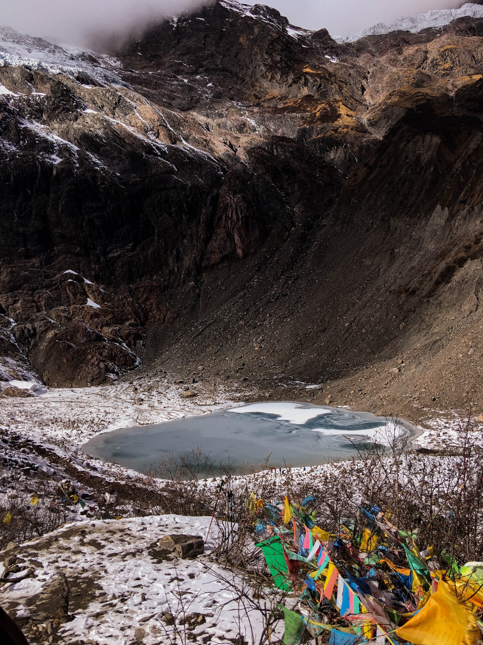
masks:
MULTIPOLYGON (((27 382, 20 385, 26 387, 27 382)), ((207 394, 201 383, 191 387, 198 397, 185 398, 182 384, 161 377, 91 388, 43 388, 28 399, 2 399, 0 426, 74 450, 100 432, 202 414, 233 403, 223 386, 207 394)))

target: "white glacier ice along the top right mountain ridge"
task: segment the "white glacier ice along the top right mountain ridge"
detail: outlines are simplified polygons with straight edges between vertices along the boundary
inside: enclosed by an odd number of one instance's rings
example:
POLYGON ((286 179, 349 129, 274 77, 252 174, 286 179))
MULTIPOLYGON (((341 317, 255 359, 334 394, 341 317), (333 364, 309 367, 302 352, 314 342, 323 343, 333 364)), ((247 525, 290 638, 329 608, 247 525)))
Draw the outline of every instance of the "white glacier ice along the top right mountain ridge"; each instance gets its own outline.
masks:
POLYGON ((340 38, 336 38, 336 41, 337 43, 354 43, 359 40, 359 38, 390 34, 391 32, 399 31, 417 34, 423 29, 449 25, 453 20, 464 17, 483 18, 483 5, 467 3, 459 9, 435 9, 428 11, 427 14, 409 15, 405 18, 399 18, 389 25, 377 23, 374 27, 363 29, 356 34, 345 34, 340 38))

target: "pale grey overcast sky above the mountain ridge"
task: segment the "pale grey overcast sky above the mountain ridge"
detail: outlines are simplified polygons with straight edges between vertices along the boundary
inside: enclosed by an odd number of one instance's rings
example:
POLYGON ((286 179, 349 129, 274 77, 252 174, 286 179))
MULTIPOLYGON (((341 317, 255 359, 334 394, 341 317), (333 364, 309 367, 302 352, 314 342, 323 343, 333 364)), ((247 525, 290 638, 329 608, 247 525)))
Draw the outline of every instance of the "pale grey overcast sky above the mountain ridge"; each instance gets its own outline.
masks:
MULTIPOLYGON (((246 0, 245 0, 246 2, 246 0)), ((249 4, 254 2, 249 1, 249 4)), ((84 45, 89 32, 120 32, 152 17, 172 15, 199 0, 0 0, 0 24, 19 32, 84 45)), ((430 9, 454 8, 458 0, 269 0, 294 25, 325 27, 334 36, 430 9)))

